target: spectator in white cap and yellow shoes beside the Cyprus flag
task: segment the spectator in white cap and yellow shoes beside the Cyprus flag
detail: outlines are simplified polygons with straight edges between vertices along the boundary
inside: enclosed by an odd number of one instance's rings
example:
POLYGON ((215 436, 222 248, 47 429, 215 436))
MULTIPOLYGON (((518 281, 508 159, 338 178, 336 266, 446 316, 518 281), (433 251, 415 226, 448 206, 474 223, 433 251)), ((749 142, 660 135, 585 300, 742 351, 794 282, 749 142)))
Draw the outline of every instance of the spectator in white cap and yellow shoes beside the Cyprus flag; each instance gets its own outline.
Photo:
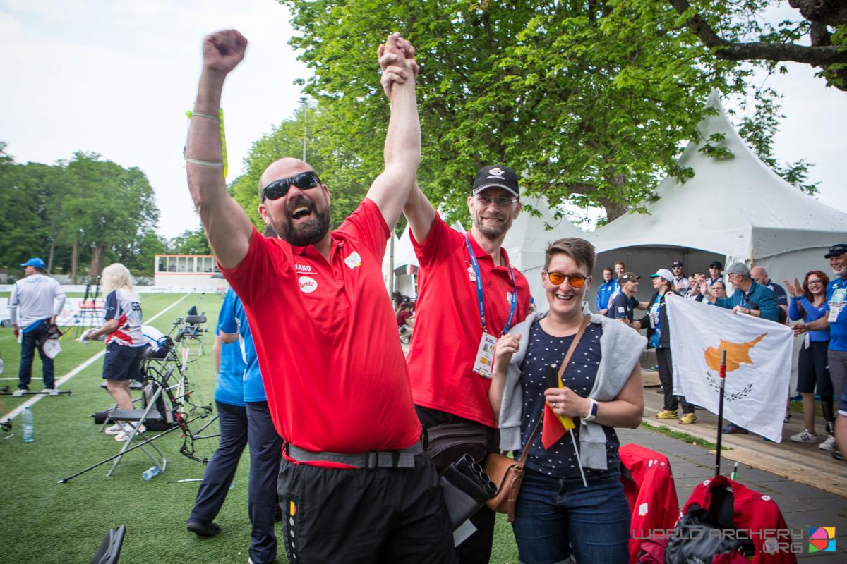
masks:
POLYGON ((677 294, 673 289, 673 273, 667 268, 660 268, 656 274, 651 274, 653 288, 656 290, 650 301, 643 302, 649 313, 640 320, 641 327, 647 327, 647 338, 656 348, 656 364, 659 365, 659 380, 662 381, 662 393, 665 401, 662 411, 656 413, 658 419, 676 419, 679 415, 677 408, 683 410, 679 424, 692 424, 697 420, 694 406, 685 401, 684 397, 673 395, 673 359, 671 359, 671 331, 667 320, 665 299, 670 294, 677 294))

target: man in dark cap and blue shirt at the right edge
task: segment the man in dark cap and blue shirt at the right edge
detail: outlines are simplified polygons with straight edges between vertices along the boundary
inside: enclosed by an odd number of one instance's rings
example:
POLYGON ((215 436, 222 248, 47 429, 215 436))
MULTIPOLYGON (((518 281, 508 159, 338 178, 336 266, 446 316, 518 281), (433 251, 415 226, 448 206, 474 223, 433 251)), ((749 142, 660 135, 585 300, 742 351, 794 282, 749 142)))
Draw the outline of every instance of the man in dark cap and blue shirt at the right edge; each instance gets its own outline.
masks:
MULTIPOLYGON (((811 323, 798 323, 794 326, 794 333, 800 335, 805 331, 829 329, 827 350, 829 377, 833 381, 835 397, 840 397, 840 401, 844 403, 847 402, 847 397, 843 397, 844 382, 847 381, 847 311, 845 311, 847 309, 847 243, 833 244, 829 252, 823 256, 829 259, 829 266, 832 267, 835 275, 833 281, 827 286, 829 315, 811 323)), ((844 431, 847 430, 847 424, 843 421, 844 415, 845 413, 839 410, 839 422, 836 424, 842 430, 842 433, 836 431, 839 447, 842 450, 847 449, 847 445, 842 444, 847 439, 844 436, 844 431)), ((833 451, 833 457, 844 459, 838 451, 833 451)))

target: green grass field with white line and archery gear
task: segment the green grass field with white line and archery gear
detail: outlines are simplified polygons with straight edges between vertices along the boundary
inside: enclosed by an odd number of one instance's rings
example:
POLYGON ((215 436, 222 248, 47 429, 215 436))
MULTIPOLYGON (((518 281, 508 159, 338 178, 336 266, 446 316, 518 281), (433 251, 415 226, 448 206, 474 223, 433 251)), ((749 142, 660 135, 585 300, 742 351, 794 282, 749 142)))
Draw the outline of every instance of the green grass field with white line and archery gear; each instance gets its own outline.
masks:
MULTIPOLYGON (((150 320, 184 294, 142 294, 144 319, 150 320)), ((215 375, 212 369, 212 331, 221 298, 215 294, 192 294, 182 299, 152 322, 163 332, 170 330, 175 318, 185 315, 191 305, 205 311, 210 332, 204 339, 206 354, 191 357, 190 381, 197 404, 213 402, 215 375)), ((69 334, 62 340, 62 353, 56 359, 56 378, 102 351, 102 343, 81 344, 69 334)), ((19 365, 19 345, 11 329, 0 329, 0 357, 5 370, 0 386, 14 390, 19 365)), ((179 453, 182 439, 178 432, 157 441, 168 457, 167 473, 150 481, 141 473, 152 465, 141 452, 130 452, 111 478, 106 478, 111 463, 95 468, 58 484, 59 479, 116 454, 119 443, 97 432, 89 415, 111 407, 111 398, 100 387, 102 360, 60 386, 69 396, 43 397, 31 408, 35 419, 36 440, 21 440, 20 418, 13 430, 0 431, 0 523, 3 549, 0 562, 37 562, 52 564, 87 562, 109 528, 127 527, 121 564, 209 562, 229 564, 246 562, 250 542, 247 518, 247 476, 249 457, 245 452, 235 475, 234 487, 216 522, 222 531, 213 539, 200 539, 185 530, 185 518, 197 495, 197 482, 177 483, 179 479, 201 478, 204 467, 179 453), (8 437, 8 438, 7 438, 8 437)), ((41 390, 41 361, 33 367, 32 390, 41 390)), ((136 392, 137 393, 137 392, 136 392)), ((0 419, 29 400, 28 397, 0 396, 0 419)), ((210 427, 209 431, 216 425, 210 427)), ((210 456, 215 439, 198 441, 197 452, 210 456), (205 444, 202 444, 205 443, 205 444)), ((280 536, 281 528, 277 529, 280 536)), ((280 545, 278 561, 285 562, 280 545)), ((517 548, 505 516, 498 516, 494 555, 491 562, 517 562, 517 548)))

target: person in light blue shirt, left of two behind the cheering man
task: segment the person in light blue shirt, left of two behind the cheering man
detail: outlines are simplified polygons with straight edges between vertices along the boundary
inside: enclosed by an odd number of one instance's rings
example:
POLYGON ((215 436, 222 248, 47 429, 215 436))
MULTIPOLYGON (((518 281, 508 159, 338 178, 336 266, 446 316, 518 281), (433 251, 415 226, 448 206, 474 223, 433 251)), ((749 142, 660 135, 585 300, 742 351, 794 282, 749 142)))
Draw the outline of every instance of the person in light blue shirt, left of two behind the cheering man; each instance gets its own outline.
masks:
POLYGON ((185 522, 185 528, 202 537, 213 537, 220 532, 214 518, 224 505, 247 444, 247 408, 242 384, 246 364, 241 355, 241 345, 237 342, 224 343, 220 337, 221 323, 225 324, 232 318, 231 312, 237 299, 232 290, 226 293, 212 347, 212 361, 218 373, 214 402, 218 410, 220 446, 206 467, 197 490, 197 501, 185 522))

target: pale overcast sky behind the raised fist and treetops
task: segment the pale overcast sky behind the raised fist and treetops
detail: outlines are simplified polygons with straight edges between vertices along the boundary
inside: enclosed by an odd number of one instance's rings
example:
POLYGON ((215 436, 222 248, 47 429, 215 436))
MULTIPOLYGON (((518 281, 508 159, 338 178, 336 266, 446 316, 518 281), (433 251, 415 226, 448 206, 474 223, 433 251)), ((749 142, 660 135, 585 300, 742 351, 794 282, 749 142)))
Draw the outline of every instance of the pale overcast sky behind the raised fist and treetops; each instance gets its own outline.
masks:
MULTIPOLYGON (((288 47, 288 20, 274 0, 0 0, 0 140, 16 162, 52 163, 81 150, 141 168, 156 191, 158 232, 174 237, 199 226, 182 147, 202 38, 233 27, 249 41, 222 101, 230 182, 252 142, 291 117, 301 96, 292 81, 309 74, 288 47)), ((769 79, 787 116, 774 149, 783 161, 814 163, 820 200, 847 210, 847 92, 813 74, 791 65, 769 79)))

